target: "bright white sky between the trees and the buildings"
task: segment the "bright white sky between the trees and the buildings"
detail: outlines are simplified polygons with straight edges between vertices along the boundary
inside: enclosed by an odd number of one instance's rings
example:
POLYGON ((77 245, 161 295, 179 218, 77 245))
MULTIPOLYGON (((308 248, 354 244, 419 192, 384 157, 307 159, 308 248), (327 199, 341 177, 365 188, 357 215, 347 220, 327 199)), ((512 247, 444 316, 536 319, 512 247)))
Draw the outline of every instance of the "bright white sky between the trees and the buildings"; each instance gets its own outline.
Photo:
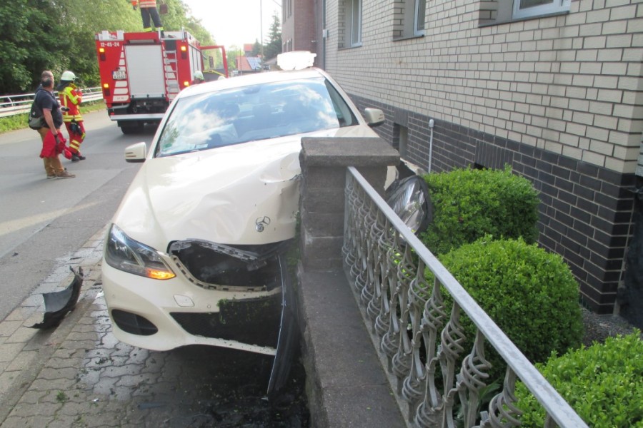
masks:
POLYGON ((272 16, 281 21, 282 0, 183 0, 192 16, 201 20, 216 44, 242 48, 244 44, 265 40, 270 34, 272 16), (259 19, 262 14, 263 20, 259 19), (261 28, 263 27, 263 28, 261 28), (261 37, 263 29, 264 36, 261 37))

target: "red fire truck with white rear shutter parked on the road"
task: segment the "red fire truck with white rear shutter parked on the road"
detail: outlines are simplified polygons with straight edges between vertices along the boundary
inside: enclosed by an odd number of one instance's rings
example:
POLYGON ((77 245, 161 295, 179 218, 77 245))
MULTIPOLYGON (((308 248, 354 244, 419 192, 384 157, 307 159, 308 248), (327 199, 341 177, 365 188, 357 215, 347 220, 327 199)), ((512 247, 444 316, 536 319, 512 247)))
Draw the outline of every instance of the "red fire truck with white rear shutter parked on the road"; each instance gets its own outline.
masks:
POLYGON ((141 131, 146 123, 158 125, 195 71, 206 80, 228 77, 224 46, 201 46, 184 30, 101 31, 96 54, 107 113, 125 134, 141 131), (222 60, 219 70, 215 59, 222 60))

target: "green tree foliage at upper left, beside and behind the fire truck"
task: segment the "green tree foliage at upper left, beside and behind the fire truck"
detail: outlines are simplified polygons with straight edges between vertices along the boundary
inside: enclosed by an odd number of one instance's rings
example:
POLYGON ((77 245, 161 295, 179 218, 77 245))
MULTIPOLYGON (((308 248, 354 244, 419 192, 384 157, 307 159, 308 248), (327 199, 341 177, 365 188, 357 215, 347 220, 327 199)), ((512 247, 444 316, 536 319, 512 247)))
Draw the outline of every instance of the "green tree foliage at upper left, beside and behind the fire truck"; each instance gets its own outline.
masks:
MULTIPOLYGON (((186 29, 201 44, 216 44, 181 0, 165 0, 164 29, 186 29)), ((32 91, 41 72, 74 71, 81 84, 99 84, 95 34, 141 31, 141 13, 128 0, 12 0, 0 2, 0 93, 32 91)))

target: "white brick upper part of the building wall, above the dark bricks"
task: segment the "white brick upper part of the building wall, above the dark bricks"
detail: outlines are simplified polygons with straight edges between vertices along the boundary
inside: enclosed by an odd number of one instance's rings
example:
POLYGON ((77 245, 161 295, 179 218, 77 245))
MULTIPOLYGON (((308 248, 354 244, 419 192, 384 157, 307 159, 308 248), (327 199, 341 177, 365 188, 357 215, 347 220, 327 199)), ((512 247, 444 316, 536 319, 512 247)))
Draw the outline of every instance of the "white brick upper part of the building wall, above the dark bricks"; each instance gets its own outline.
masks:
POLYGON ((576 0, 569 14, 479 26, 479 0, 427 1, 426 36, 393 41, 394 0, 363 0, 362 47, 327 70, 349 92, 619 173, 643 133, 643 2, 576 0))

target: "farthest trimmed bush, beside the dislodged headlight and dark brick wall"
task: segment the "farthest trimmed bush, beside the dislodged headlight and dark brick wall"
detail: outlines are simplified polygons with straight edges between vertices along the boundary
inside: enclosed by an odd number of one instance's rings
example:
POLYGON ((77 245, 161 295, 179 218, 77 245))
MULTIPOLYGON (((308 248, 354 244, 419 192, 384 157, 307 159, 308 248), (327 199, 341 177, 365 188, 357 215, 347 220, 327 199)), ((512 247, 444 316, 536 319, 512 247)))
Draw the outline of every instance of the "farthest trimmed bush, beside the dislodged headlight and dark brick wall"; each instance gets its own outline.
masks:
POLYGON ((456 169, 425 175, 433 220, 421 239, 435 255, 448 253, 484 235, 538 238, 537 191, 527 178, 504 170, 456 169))

